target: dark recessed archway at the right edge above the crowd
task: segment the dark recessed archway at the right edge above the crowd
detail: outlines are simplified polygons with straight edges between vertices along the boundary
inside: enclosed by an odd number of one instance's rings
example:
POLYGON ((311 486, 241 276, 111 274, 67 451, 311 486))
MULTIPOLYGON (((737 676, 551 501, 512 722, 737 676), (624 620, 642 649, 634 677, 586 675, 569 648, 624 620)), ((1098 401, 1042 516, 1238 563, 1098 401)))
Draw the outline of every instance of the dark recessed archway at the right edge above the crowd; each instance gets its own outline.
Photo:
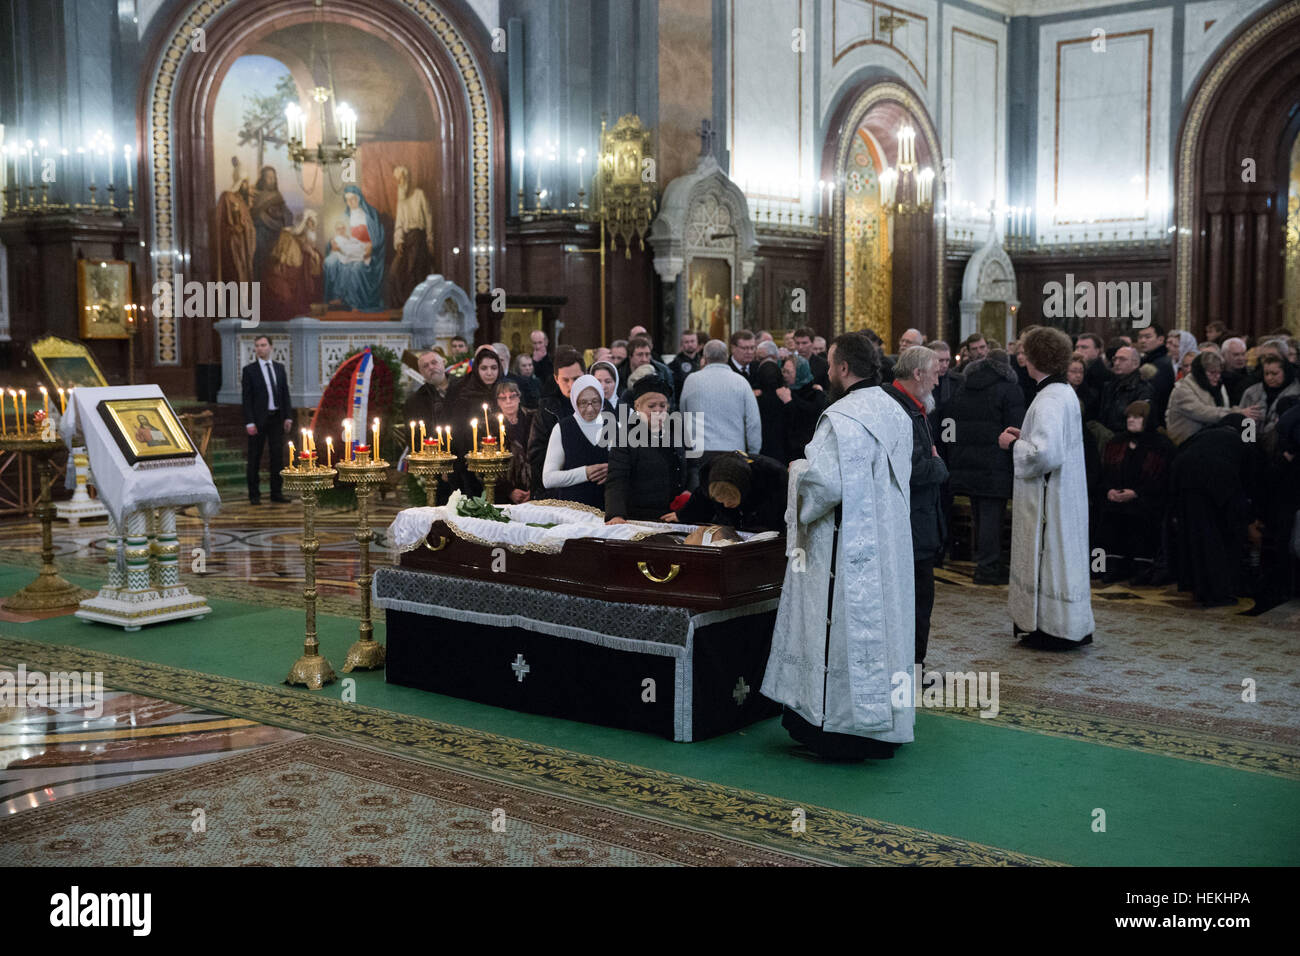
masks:
MULTIPOLYGON (((1200 78, 1178 146, 1176 325, 1288 320, 1287 200, 1300 124, 1300 4, 1257 17, 1200 78)), ((1294 332, 1295 325, 1290 326, 1294 332)))

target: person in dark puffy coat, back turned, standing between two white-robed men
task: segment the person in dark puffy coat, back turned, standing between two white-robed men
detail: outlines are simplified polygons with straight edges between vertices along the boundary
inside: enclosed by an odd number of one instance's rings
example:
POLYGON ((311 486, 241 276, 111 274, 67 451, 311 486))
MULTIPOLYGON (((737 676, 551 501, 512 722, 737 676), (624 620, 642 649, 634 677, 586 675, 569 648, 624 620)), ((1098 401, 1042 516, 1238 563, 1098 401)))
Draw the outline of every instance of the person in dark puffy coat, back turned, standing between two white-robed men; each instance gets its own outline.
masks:
POLYGON ((1006 584, 1002 519, 1013 466, 1011 453, 998 447, 997 436, 1024 421, 1024 395, 1005 351, 994 349, 966 367, 966 382, 944 418, 952 420, 953 441, 946 447, 953 494, 971 502, 975 583, 1006 584))

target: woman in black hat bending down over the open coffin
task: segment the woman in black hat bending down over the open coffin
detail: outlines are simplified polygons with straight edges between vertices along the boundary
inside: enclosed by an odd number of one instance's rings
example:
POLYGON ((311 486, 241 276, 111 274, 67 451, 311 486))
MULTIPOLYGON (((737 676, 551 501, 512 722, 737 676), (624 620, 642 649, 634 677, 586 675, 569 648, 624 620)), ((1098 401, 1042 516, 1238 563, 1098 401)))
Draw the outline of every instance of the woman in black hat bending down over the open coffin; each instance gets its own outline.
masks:
POLYGON ((725 524, 737 531, 785 531, 785 466, 767 455, 732 451, 699 471, 699 489, 676 519, 686 524, 725 524))

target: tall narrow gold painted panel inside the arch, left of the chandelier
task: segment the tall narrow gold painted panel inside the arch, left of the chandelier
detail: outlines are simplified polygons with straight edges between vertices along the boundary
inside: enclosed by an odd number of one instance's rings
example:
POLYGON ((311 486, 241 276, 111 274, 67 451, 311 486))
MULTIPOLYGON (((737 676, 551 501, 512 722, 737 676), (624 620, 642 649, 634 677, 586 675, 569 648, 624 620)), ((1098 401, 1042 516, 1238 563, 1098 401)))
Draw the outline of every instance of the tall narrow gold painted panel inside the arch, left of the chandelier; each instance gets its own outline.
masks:
POLYGON ((844 182, 844 328, 890 341, 893 261, 889 219, 880 206, 880 150, 859 129, 844 182))

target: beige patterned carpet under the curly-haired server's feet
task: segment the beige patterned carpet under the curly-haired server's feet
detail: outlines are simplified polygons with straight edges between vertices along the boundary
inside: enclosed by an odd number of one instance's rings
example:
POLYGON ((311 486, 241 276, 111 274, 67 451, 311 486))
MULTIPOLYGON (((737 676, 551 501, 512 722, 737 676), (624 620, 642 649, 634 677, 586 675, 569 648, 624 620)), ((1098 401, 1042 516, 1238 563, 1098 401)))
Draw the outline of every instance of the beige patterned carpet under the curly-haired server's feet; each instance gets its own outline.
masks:
POLYGON ((1011 640, 1005 588, 968 585, 949 572, 937 585, 926 666, 996 670, 1011 704, 1300 754, 1300 628, 1175 610, 1153 594, 1165 592, 1095 589, 1096 643, 1049 653, 1011 640), (1243 700, 1245 680, 1254 683, 1253 701, 1243 700))

